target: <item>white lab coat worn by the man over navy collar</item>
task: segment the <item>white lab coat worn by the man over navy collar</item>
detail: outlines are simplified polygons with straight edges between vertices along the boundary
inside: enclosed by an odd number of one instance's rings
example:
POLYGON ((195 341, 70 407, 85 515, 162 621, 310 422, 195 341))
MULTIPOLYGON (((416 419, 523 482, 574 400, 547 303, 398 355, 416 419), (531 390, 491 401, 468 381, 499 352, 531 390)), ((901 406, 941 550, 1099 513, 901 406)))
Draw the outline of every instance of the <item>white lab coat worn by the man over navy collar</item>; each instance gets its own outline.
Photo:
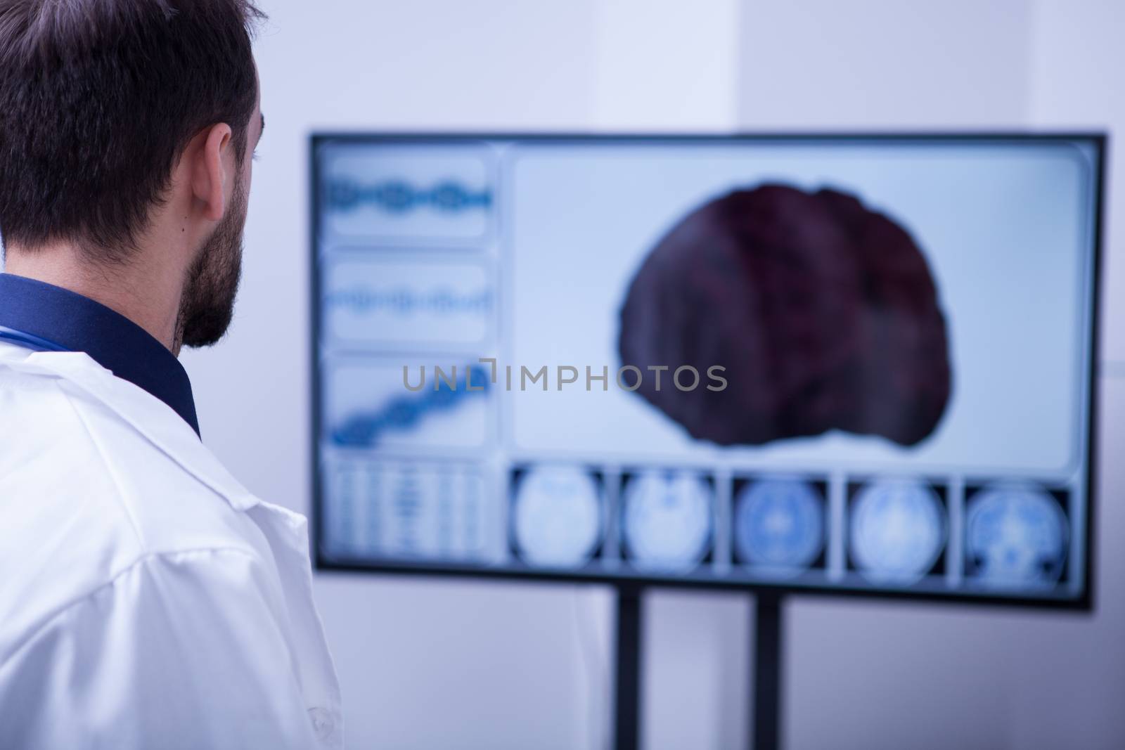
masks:
POLYGON ((0 343, 0 748, 342 737, 305 518, 86 354, 0 343))

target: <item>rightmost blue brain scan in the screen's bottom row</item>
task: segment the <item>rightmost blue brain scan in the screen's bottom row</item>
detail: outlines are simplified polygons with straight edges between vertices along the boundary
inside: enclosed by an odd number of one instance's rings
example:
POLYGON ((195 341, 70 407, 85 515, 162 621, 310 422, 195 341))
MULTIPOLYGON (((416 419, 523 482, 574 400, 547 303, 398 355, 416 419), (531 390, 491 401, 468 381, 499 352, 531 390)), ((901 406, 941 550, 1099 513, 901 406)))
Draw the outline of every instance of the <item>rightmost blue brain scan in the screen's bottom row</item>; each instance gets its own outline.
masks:
POLYGON ((998 588, 1054 585, 1066 560, 1066 517, 1032 486, 1000 485, 973 495, 965 518, 969 576, 998 588))

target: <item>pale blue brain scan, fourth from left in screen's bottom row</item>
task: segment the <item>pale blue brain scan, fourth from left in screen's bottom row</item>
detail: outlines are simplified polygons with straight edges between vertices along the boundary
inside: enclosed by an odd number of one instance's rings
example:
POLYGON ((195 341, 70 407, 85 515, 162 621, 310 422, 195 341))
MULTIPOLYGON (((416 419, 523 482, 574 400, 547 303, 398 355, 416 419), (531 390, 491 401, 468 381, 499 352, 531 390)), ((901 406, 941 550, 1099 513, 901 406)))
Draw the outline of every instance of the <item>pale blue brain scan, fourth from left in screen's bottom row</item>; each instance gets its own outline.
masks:
POLYGON ((852 562, 873 581, 918 581, 945 546, 944 507, 921 481, 879 480, 864 486, 852 504, 852 562))

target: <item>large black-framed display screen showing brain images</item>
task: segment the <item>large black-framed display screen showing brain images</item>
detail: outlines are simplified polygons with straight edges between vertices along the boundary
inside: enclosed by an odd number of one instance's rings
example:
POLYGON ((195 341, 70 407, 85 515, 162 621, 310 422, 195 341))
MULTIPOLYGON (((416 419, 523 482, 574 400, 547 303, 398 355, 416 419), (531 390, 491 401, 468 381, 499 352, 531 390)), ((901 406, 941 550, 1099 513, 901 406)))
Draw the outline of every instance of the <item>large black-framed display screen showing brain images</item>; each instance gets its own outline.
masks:
POLYGON ((1088 606, 1102 150, 314 136, 318 564, 1088 606))

